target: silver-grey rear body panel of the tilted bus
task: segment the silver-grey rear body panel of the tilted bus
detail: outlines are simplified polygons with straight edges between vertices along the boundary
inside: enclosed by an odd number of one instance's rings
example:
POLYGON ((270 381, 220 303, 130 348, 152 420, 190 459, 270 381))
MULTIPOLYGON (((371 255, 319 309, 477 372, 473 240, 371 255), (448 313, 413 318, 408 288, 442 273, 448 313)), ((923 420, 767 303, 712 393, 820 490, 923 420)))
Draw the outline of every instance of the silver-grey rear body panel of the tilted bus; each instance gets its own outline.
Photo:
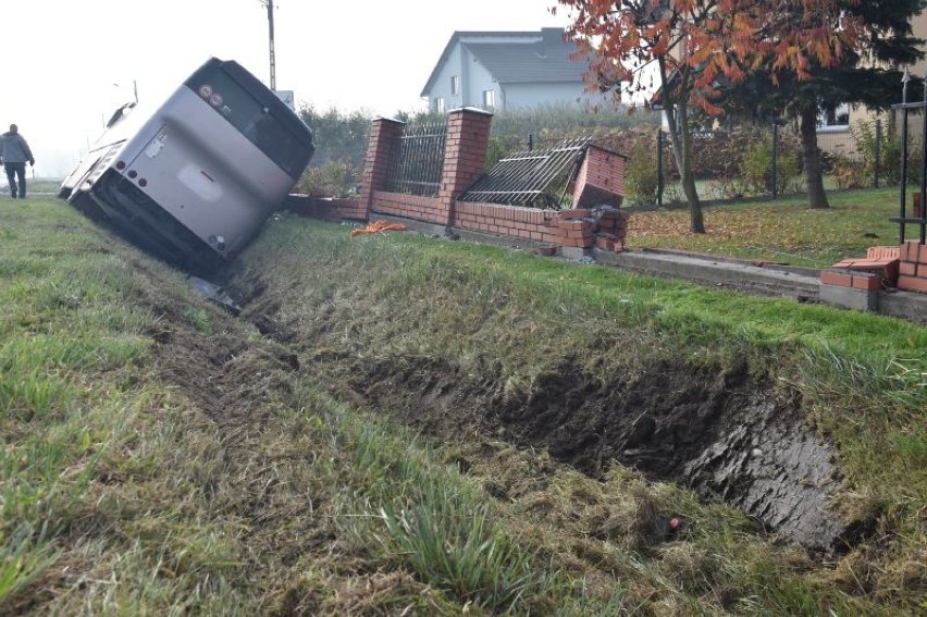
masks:
POLYGON ((120 160, 128 182, 226 258, 247 245, 294 184, 185 87, 129 140, 120 160))

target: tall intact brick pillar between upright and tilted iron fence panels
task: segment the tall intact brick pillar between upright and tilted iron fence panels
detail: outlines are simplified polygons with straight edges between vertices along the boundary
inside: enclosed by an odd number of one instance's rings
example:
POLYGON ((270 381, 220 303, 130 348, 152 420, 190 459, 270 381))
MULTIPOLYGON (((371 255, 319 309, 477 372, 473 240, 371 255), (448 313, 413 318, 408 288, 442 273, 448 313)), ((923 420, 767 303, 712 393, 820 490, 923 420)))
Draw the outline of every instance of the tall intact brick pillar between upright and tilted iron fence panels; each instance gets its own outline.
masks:
POLYGON ((483 173, 492 122, 492 113, 469 107, 456 109, 448 115, 444 168, 437 193, 441 208, 447 215, 447 226, 454 225, 457 196, 483 173))

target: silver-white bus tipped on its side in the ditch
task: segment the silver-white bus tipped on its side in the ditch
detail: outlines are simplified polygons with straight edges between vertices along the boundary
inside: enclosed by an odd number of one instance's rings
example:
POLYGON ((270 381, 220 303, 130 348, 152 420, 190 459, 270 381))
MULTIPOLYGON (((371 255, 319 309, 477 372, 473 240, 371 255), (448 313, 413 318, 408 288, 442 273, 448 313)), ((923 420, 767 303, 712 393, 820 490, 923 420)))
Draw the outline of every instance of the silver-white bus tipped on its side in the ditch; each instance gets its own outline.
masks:
POLYGON ((314 152, 293 110, 240 64, 215 58, 153 112, 131 103, 107 126, 60 197, 196 270, 245 248, 314 152))

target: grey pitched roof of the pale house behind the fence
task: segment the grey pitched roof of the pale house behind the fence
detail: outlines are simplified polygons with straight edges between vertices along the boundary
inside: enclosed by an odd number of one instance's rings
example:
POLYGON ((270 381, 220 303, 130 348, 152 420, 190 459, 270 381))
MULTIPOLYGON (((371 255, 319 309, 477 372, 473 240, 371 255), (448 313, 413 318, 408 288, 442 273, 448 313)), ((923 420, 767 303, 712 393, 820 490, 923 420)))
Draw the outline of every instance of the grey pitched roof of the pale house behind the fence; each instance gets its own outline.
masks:
POLYGON ((563 83, 583 81, 588 63, 573 60, 576 44, 564 40, 563 28, 540 32, 456 32, 435 64, 422 89, 428 96, 450 51, 460 44, 485 66, 499 84, 563 83), (523 42, 480 42, 480 39, 520 37, 523 42))

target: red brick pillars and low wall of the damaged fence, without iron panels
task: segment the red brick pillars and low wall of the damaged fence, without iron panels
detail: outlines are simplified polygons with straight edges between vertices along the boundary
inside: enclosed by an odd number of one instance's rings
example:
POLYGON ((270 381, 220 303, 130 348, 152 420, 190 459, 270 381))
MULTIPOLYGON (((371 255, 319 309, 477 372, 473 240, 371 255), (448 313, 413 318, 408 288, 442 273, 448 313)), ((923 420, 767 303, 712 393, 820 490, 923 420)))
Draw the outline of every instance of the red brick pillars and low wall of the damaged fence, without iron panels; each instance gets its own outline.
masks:
POLYGON ((436 197, 386 190, 392 148, 404 123, 376 119, 370 131, 358 199, 292 200, 292 209, 330 220, 370 221, 396 217, 446 226, 449 231, 494 234, 556 247, 597 246, 620 252, 627 213, 619 211, 625 194, 625 156, 589 146, 571 185, 572 209, 553 210, 457 201, 483 173, 492 114, 464 108, 448 115, 444 168, 436 197))

